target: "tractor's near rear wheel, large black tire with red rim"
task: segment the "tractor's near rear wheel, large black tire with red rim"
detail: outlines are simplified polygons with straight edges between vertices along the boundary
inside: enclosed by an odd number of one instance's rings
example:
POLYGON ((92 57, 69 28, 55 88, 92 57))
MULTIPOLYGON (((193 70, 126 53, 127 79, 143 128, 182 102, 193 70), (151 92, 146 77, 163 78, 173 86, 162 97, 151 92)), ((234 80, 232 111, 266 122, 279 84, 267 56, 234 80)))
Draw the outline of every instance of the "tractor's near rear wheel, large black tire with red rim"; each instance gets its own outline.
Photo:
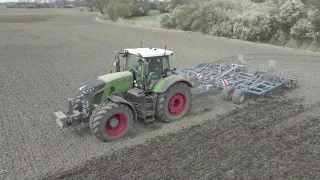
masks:
POLYGON ((189 113, 192 101, 191 88, 186 83, 173 84, 167 93, 158 96, 155 117, 166 123, 180 119, 189 113))

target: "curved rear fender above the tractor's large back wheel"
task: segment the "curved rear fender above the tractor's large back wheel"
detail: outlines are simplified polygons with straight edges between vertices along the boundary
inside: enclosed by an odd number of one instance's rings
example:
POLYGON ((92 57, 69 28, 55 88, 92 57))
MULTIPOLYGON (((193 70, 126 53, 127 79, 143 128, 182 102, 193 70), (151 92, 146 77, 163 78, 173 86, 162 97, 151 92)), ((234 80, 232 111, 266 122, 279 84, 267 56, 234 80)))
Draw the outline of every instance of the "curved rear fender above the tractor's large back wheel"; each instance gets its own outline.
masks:
POLYGON ((183 82, 186 83, 189 87, 193 87, 193 85, 191 84, 191 82, 179 75, 171 75, 171 76, 167 76, 165 78, 160 79, 157 84, 154 86, 153 88, 153 92, 156 93, 164 93, 166 92, 173 84, 177 83, 177 82, 183 82))

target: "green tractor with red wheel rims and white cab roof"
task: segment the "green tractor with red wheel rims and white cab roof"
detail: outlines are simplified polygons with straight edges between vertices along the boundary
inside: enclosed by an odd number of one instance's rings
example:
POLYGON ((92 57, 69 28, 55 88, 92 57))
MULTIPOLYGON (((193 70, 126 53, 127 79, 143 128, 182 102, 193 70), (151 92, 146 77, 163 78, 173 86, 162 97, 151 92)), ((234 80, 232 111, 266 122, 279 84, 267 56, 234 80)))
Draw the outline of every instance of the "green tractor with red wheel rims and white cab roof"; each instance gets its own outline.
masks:
POLYGON ((54 113, 56 123, 60 128, 89 123, 92 133, 107 142, 126 135, 138 119, 172 122, 184 117, 193 100, 192 84, 171 68, 172 56, 166 46, 118 53, 115 72, 85 82, 69 99, 67 112, 54 113))

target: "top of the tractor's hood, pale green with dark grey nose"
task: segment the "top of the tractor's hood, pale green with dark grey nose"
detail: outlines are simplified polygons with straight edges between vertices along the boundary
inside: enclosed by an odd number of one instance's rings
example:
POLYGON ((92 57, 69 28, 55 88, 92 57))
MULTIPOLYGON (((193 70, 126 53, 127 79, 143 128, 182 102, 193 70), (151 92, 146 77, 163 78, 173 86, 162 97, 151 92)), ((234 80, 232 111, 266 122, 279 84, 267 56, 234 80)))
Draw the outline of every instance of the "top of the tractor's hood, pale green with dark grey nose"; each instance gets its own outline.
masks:
POLYGON ((116 72, 111 74, 106 74, 103 76, 94 77, 86 81, 79 90, 83 94, 90 94, 106 86, 114 84, 114 82, 121 83, 122 80, 132 79, 133 74, 129 71, 116 72))

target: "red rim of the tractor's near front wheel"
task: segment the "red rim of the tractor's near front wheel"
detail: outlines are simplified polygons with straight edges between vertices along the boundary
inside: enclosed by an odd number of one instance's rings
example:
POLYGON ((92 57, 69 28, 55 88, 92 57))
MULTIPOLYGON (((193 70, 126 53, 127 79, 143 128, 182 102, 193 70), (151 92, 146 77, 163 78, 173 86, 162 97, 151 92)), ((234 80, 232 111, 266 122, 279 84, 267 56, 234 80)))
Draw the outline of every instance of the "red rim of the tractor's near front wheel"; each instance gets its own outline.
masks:
POLYGON ((123 114, 114 114, 105 124, 106 133, 110 136, 120 135, 127 126, 127 118, 123 114), (116 123, 116 124, 115 124, 116 123))

